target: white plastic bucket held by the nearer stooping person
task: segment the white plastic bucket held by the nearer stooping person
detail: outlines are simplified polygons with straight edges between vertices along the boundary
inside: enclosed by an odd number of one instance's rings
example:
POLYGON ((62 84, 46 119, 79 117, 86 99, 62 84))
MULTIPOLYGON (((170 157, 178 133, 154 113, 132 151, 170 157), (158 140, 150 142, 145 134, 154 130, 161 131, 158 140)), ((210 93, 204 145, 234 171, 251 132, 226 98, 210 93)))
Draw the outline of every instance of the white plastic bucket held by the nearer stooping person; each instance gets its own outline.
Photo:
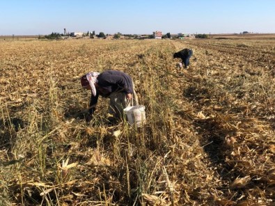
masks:
POLYGON ((137 105, 137 106, 129 106, 123 109, 127 117, 127 122, 130 125, 136 125, 136 127, 141 127, 146 122, 146 113, 145 106, 137 105))

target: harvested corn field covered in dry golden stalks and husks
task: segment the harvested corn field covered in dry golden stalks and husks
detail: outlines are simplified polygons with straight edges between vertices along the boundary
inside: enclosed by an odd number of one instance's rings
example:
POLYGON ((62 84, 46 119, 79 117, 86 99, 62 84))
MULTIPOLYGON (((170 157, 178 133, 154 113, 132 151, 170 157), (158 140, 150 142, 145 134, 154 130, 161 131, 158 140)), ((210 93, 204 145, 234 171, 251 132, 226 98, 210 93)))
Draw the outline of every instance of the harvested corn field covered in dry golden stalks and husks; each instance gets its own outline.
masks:
POLYGON ((275 40, 0 41, 0 205, 272 205, 275 40), (193 49, 187 70, 173 53, 193 49), (84 120, 127 72, 146 125, 84 120))

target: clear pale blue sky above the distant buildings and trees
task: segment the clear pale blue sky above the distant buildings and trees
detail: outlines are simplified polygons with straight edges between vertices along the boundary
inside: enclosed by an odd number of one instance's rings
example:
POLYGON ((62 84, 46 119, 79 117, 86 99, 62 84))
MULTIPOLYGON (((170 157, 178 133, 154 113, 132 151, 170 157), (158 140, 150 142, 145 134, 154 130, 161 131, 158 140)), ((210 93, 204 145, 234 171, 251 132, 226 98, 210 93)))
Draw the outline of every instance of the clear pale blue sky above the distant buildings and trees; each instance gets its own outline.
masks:
POLYGON ((0 35, 275 33, 275 0, 0 0, 0 35))

